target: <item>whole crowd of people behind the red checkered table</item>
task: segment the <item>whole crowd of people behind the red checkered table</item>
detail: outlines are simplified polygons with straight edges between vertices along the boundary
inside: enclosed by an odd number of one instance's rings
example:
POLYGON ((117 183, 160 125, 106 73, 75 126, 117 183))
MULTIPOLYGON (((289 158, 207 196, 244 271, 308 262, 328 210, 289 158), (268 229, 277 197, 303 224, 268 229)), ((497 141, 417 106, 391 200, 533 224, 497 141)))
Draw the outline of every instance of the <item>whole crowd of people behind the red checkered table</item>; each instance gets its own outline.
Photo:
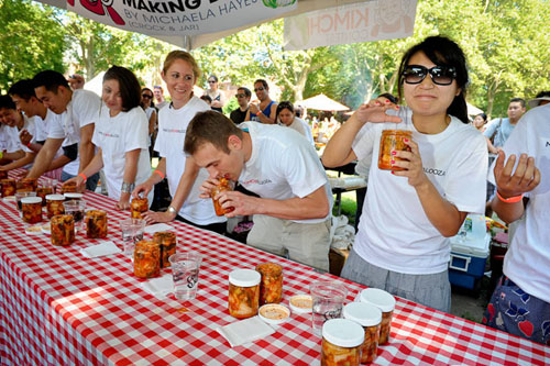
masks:
POLYGON ((239 87, 228 118, 215 75, 204 96, 194 93, 200 75, 189 53, 170 52, 161 73, 169 102, 161 86, 142 87, 120 66, 107 70, 101 97, 81 89, 84 79, 52 70, 19 80, 0 97, 0 169, 90 190, 102 170, 118 210, 132 197, 152 203, 155 185, 167 181, 169 207, 145 212, 147 223, 180 220, 223 234, 229 218, 250 215, 249 245, 328 270, 333 198, 324 167, 356 160, 369 189, 343 277, 449 312, 449 237, 488 202, 518 228, 484 321, 550 342, 549 92, 528 112, 514 98, 508 118, 471 122, 464 54, 431 36, 405 53, 398 98, 362 104, 334 129, 320 159, 299 108, 272 100, 266 80, 255 80, 255 101, 239 87), (392 151, 395 170, 374 168, 388 129, 410 132, 407 151, 392 151), (153 173, 152 154, 160 157, 153 173), (221 217, 210 200, 220 178, 242 187, 213 197, 228 212, 221 217))

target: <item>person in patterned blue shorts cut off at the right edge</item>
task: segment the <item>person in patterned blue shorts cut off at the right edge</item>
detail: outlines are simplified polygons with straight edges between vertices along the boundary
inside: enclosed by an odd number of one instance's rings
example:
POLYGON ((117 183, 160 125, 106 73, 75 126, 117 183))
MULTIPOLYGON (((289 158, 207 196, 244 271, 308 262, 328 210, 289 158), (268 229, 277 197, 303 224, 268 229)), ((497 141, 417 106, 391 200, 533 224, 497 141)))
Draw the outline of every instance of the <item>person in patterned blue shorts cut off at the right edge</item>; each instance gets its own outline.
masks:
MULTIPOLYGON (((540 98, 540 97, 539 97, 540 98)), ((517 223, 483 323, 550 346, 550 104, 528 111, 498 152, 493 210, 517 223), (507 158, 507 160, 506 160, 507 158)))

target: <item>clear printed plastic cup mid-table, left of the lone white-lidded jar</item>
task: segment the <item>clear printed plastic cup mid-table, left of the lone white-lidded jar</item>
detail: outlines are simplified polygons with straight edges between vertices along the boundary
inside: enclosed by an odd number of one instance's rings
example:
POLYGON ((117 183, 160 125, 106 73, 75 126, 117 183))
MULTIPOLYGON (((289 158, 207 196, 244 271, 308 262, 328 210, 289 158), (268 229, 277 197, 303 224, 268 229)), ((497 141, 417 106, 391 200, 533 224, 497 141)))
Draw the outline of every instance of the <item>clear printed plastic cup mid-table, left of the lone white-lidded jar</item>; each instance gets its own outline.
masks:
POLYGON ((176 253, 168 258, 174 278, 174 296, 178 300, 193 300, 199 286, 202 256, 198 253, 176 253))

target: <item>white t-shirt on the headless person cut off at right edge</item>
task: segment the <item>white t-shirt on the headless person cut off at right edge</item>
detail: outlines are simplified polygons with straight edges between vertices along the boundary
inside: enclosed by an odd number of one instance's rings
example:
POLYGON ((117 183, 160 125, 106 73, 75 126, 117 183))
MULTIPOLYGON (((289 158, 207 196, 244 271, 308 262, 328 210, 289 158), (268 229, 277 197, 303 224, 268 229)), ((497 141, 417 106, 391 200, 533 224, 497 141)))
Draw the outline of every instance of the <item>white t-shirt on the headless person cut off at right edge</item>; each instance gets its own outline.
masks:
MULTIPOLYGON (((550 104, 528 111, 503 149, 506 159, 512 154, 534 156, 541 176, 525 195, 529 203, 504 257, 504 274, 527 293, 550 302, 550 104)), ((490 180, 495 182, 493 169, 490 180)))

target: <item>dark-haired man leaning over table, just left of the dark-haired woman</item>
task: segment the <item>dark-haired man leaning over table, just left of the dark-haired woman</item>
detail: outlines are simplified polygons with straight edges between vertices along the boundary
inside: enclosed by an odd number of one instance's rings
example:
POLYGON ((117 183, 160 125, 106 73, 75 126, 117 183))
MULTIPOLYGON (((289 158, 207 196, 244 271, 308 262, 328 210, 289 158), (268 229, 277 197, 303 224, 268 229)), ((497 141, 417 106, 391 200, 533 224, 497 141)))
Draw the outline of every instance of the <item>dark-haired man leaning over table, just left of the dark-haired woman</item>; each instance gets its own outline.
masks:
MULTIPOLYGON (((52 112, 61 114, 61 121, 51 126, 47 140, 28 177, 38 178, 44 174, 62 145, 68 147, 78 143, 79 164, 65 165, 62 173, 62 180, 65 181, 77 176, 95 155, 91 136, 99 117, 101 100, 92 91, 72 90, 67 79, 57 71, 41 71, 34 76, 33 82, 38 100, 52 112)), ((86 188, 95 190, 99 174, 86 177, 86 188)))

